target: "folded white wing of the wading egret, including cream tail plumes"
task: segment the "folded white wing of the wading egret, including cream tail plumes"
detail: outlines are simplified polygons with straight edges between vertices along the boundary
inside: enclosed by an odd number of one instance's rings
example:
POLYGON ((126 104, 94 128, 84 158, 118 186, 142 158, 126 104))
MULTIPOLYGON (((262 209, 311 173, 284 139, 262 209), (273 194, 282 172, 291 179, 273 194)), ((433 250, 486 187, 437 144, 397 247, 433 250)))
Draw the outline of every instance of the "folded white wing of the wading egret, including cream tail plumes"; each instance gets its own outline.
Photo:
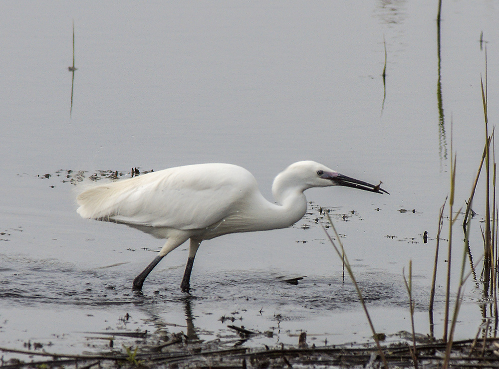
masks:
POLYGON ((256 188, 244 168, 192 165, 96 185, 77 196, 77 211, 131 225, 203 229, 240 211, 256 188))

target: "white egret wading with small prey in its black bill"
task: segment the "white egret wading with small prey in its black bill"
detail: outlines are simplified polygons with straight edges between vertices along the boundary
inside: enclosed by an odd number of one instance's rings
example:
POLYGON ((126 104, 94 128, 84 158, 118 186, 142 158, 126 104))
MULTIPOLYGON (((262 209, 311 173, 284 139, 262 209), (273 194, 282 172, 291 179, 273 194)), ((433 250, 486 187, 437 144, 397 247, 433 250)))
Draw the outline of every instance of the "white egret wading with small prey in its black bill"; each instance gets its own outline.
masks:
POLYGON ((303 161, 277 175, 272 184, 277 202, 272 203, 263 197, 246 169, 231 164, 198 164, 97 184, 77 196, 77 212, 84 218, 126 224, 166 238, 158 256, 134 279, 134 290, 142 289, 147 275, 163 257, 190 239, 180 285, 186 292, 201 241, 228 233, 289 227, 305 215, 304 190, 334 185, 388 193, 379 184, 303 161))

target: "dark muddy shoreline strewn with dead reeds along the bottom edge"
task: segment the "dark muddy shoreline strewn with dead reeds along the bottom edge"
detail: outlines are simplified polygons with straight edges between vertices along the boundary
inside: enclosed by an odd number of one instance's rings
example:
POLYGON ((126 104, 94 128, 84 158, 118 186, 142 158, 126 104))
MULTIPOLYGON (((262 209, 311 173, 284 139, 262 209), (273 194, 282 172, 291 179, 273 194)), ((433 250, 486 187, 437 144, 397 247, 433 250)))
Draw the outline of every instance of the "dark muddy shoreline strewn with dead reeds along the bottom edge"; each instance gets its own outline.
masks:
MULTIPOLYGON (((144 337, 145 341, 151 337, 144 337)), ((374 345, 308 346, 306 341, 291 348, 247 348, 234 342, 191 342, 182 333, 171 335, 162 345, 148 346, 144 341, 135 349, 123 347, 94 355, 65 355, 44 351, 11 350, 2 352, 18 358, 2 361, 1 368, 378 368, 382 365, 374 345), (232 347, 228 347, 232 346, 232 347), (140 347, 140 349, 138 349, 140 347), (46 358, 50 357, 50 360, 46 358)), ((423 343, 417 346, 417 362, 426 368, 442 365, 446 344, 423 343)), ((453 368, 498 368, 499 343, 496 339, 464 340, 453 344, 453 368)), ((391 367, 414 368, 408 343, 383 346, 391 367)))

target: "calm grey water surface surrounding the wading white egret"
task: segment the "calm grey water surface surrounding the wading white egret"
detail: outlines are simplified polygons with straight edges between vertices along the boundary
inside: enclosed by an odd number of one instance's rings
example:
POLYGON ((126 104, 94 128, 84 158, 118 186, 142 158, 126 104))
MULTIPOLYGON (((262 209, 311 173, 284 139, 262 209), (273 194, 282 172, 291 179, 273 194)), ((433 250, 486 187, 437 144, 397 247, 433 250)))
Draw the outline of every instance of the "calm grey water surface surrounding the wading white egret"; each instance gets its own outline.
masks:
MULTIPOLYGON (((296 344, 300 331, 316 345, 369 341, 353 286, 342 283, 341 262, 315 222, 320 206, 331 209, 344 236, 376 329, 410 330, 402 269, 412 260, 416 329, 429 333, 451 124, 459 207, 483 151, 485 47, 489 120, 498 119, 496 3, 444 4, 440 63, 436 1, 2 1, 0 8, 0 346, 31 341, 81 353, 105 349, 105 331, 146 329, 237 340, 222 317, 272 332, 245 345, 296 344), (132 167, 229 162, 249 169, 270 199, 274 176, 298 160, 381 180, 391 195, 311 189, 309 213, 292 228, 205 241, 191 298, 179 289, 185 246, 134 296, 133 277, 162 241, 79 218, 66 182, 67 170, 127 176, 132 167), (297 286, 280 282, 297 276, 306 276, 297 286)), ((477 196, 478 259, 484 200, 477 196)), ((437 336, 443 255, 440 261, 437 336)), ((467 285, 460 338, 482 321, 480 288, 467 285)))

